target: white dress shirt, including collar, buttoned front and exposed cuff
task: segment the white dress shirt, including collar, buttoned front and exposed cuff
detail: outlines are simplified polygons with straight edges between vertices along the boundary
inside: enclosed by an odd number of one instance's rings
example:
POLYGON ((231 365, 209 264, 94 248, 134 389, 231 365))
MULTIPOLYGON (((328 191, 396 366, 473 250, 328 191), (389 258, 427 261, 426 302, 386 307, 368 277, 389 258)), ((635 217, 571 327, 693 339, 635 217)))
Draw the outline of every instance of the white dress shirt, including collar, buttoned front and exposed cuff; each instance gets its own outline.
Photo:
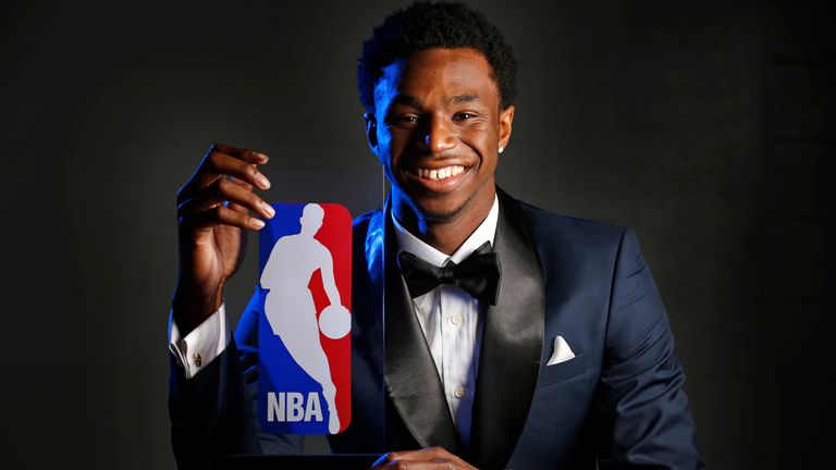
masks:
MULTIPOLYGON (((401 251, 411 252, 441 267, 448 261, 460 263, 485 242, 493 245, 499 214, 499 199, 494 198, 493 207, 484 221, 451 256, 421 242, 406 231, 394 215, 392 220, 395 240, 401 251)), ((482 336, 482 306, 470 294, 450 284, 440 285, 416 297, 413 299, 413 306, 435 361, 453 422, 462 441, 469 445, 482 336)), ((169 350, 177 364, 183 367, 186 379, 195 376, 220 356, 226 349, 231 336, 223 305, 185 337, 181 337, 173 317, 169 316, 169 350)))

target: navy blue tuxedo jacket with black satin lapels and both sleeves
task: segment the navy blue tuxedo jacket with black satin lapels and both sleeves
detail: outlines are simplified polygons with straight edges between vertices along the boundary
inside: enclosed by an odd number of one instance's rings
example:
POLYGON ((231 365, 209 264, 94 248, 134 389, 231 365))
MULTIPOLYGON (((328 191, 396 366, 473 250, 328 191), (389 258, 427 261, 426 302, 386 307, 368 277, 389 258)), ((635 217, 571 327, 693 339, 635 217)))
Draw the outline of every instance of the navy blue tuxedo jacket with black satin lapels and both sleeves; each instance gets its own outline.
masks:
MULTIPOLYGON (((499 196, 502 282, 484 312, 470 445, 456 438, 384 208, 354 224, 353 418, 332 447, 442 446, 480 468, 703 468, 685 375, 635 235, 499 196), (556 335, 576 357, 546 366, 556 335)), ((226 351, 195 378, 172 367, 181 467, 300 445, 258 430, 255 312, 247 308, 226 351)))

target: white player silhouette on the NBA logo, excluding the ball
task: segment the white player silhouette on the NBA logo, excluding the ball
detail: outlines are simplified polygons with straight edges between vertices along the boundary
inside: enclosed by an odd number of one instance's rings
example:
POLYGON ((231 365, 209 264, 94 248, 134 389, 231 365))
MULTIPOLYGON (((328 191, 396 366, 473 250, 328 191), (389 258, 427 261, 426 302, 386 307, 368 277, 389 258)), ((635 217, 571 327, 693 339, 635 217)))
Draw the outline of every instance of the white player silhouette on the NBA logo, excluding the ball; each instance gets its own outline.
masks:
POLYGON ((329 410, 328 431, 335 434, 340 431, 334 401, 336 388, 331 380, 328 356, 319 342, 317 309, 308 289, 310 276, 320 270, 331 307, 343 308, 334 282, 331 252, 314 238, 322 226, 323 217, 324 210, 319 205, 305 206, 299 219, 302 231, 279 238, 270 251, 261 273, 261 287, 270 289, 265 298, 265 314, 273 333, 282 338, 296 363, 322 385, 329 410))

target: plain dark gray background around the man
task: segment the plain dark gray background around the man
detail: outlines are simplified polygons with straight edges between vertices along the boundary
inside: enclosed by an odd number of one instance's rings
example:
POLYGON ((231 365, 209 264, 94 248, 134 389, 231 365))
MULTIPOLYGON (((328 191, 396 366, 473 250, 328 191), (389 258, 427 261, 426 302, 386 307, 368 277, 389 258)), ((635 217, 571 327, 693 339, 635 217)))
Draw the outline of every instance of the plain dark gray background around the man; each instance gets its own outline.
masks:
MULTIPOLYGON (((638 233, 708 463, 826 467, 832 12, 474 3, 520 63, 501 185, 638 233)), ((272 156, 270 200, 374 208, 355 58, 395 4, 2 3, 0 467, 173 467, 175 190, 221 140, 272 156)))

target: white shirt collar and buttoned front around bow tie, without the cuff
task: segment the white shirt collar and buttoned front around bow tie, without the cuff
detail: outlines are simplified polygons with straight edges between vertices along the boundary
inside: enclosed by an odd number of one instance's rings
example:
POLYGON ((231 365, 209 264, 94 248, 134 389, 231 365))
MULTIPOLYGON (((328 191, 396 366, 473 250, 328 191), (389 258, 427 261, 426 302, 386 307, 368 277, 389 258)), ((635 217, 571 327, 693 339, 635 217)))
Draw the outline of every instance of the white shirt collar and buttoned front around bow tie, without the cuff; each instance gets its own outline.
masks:
MULTIPOLYGON (((448 261, 458 264, 485 242, 493 245, 500 214, 499 200, 484 221, 451 256, 444 255, 407 232, 395 219, 395 239, 401 251, 442 267, 448 261)), ((476 392, 476 373, 482 338, 483 306, 467 292, 452 284, 442 284, 413 299, 418 323, 435 361, 435 369, 447 398, 450 415, 459 437, 470 444, 470 422, 476 392)))

